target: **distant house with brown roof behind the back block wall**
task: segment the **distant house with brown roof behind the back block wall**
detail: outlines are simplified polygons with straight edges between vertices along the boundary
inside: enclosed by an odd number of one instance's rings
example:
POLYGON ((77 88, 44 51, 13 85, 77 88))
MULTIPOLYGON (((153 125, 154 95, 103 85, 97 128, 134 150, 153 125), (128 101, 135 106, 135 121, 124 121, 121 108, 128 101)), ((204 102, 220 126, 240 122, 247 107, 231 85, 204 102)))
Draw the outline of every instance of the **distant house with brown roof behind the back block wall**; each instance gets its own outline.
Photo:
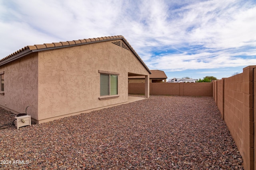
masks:
MULTIPOLYGON (((164 71, 161 70, 150 70, 152 74, 149 75, 150 83, 166 83, 166 74, 164 71)), ((129 83, 144 83, 145 76, 129 76, 128 77, 129 83)))

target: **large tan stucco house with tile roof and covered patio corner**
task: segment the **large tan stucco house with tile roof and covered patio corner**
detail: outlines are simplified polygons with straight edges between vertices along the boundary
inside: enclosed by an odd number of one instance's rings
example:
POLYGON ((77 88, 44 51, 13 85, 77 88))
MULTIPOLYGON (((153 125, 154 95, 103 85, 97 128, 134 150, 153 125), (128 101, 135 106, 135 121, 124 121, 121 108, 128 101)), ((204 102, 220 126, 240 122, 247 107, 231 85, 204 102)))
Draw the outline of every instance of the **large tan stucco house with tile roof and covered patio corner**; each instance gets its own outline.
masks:
POLYGON ((43 123, 128 101, 128 76, 150 70, 122 36, 26 46, 0 60, 0 107, 43 123))

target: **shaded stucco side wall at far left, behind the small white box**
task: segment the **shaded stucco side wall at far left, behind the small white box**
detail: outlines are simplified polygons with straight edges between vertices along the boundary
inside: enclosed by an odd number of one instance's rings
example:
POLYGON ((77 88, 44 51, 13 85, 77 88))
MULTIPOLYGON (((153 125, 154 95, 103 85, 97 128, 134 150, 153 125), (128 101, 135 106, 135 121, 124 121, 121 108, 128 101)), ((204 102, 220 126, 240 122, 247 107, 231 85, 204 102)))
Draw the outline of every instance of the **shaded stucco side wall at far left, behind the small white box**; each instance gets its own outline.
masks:
POLYGON ((27 113, 38 119, 38 57, 32 53, 3 66, 4 95, 0 95, 0 107, 13 113, 27 113))

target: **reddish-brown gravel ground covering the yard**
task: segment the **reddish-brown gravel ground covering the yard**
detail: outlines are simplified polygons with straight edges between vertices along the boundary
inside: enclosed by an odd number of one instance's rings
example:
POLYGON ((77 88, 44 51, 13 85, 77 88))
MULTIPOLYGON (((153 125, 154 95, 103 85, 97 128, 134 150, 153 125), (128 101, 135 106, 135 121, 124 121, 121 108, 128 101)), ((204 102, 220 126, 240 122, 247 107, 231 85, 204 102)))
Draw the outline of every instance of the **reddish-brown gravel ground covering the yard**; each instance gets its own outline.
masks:
MULTIPOLYGON (((0 109, 0 125, 12 123, 0 109)), ((149 99, 0 130, 0 169, 243 169, 212 97, 149 99)))

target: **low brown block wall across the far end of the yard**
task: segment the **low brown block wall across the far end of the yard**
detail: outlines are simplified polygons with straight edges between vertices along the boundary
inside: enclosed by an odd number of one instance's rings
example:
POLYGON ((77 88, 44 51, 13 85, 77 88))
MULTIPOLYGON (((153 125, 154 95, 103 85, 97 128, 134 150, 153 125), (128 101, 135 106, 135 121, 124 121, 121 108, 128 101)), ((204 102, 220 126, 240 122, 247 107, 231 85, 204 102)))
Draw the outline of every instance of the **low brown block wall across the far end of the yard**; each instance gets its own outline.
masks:
MULTIPOLYGON (((128 83, 128 93, 144 94, 144 83, 128 83)), ((212 96, 213 83, 150 83, 150 94, 212 96)))

